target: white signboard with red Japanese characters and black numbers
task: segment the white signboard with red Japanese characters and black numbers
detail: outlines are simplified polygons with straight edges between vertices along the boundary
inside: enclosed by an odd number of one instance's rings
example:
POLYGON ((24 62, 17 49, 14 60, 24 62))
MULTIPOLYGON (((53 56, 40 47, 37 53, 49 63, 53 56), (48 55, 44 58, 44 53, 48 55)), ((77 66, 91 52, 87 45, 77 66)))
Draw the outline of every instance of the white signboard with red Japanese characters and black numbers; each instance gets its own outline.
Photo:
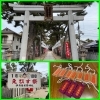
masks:
POLYGON ((41 78, 38 72, 8 73, 9 88, 40 88, 41 78))

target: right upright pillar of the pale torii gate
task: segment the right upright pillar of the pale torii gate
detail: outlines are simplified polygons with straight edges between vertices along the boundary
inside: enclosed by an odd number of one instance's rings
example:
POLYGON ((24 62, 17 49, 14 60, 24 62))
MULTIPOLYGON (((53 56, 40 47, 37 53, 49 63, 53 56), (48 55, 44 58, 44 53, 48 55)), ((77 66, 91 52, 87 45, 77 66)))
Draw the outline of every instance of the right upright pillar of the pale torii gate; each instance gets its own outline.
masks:
POLYGON ((78 50, 76 45, 75 30, 74 30, 74 21, 71 10, 68 11, 68 17, 69 17, 69 36, 70 36, 72 60, 79 60, 78 50))

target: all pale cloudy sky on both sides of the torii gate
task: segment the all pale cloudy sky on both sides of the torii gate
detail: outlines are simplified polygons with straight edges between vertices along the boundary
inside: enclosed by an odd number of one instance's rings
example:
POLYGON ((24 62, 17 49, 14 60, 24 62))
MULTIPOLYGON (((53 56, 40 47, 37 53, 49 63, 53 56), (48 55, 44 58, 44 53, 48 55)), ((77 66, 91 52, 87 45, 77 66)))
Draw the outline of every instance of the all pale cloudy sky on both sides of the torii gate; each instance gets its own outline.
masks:
MULTIPOLYGON (((79 21, 80 24, 80 30, 84 33, 84 35, 81 35, 81 40, 86 39, 92 39, 97 40, 98 39, 98 3, 93 3, 91 6, 87 7, 86 12, 88 13, 83 21, 79 21)), ((54 14, 54 16, 57 14, 54 14)), ((13 24, 8 24, 6 20, 2 20, 2 29, 8 27, 15 31, 16 33, 20 33, 22 31, 21 27, 13 27, 13 24)), ((77 24, 75 26, 75 33, 78 34, 77 31, 77 24)))

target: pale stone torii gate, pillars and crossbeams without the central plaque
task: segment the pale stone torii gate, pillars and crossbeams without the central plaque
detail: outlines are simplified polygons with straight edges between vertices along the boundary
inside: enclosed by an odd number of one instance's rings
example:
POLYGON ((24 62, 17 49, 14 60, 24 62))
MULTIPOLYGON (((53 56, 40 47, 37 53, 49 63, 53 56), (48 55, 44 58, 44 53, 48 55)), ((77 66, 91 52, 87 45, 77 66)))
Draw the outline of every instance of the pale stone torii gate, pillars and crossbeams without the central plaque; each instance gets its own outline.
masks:
MULTIPOLYGON (((15 10, 16 12, 20 12, 20 13, 25 12, 24 16, 15 16, 13 20, 15 21, 24 20, 20 60, 26 60, 29 21, 44 21, 44 16, 33 16, 33 15, 30 15, 30 12, 44 12, 44 7, 41 5, 15 5, 15 4, 9 4, 9 6, 13 7, 13 10, 15 10)), ((72 60, 79 60, 73 21, 84 20, 83 16, 73 15, 73 12, 82 11, 85 7, 86 5, 55 5, 53 6, 53 12, 67 12, 68 11, 68 15, 53 16, 53 21, 68 21, 72 60)))

